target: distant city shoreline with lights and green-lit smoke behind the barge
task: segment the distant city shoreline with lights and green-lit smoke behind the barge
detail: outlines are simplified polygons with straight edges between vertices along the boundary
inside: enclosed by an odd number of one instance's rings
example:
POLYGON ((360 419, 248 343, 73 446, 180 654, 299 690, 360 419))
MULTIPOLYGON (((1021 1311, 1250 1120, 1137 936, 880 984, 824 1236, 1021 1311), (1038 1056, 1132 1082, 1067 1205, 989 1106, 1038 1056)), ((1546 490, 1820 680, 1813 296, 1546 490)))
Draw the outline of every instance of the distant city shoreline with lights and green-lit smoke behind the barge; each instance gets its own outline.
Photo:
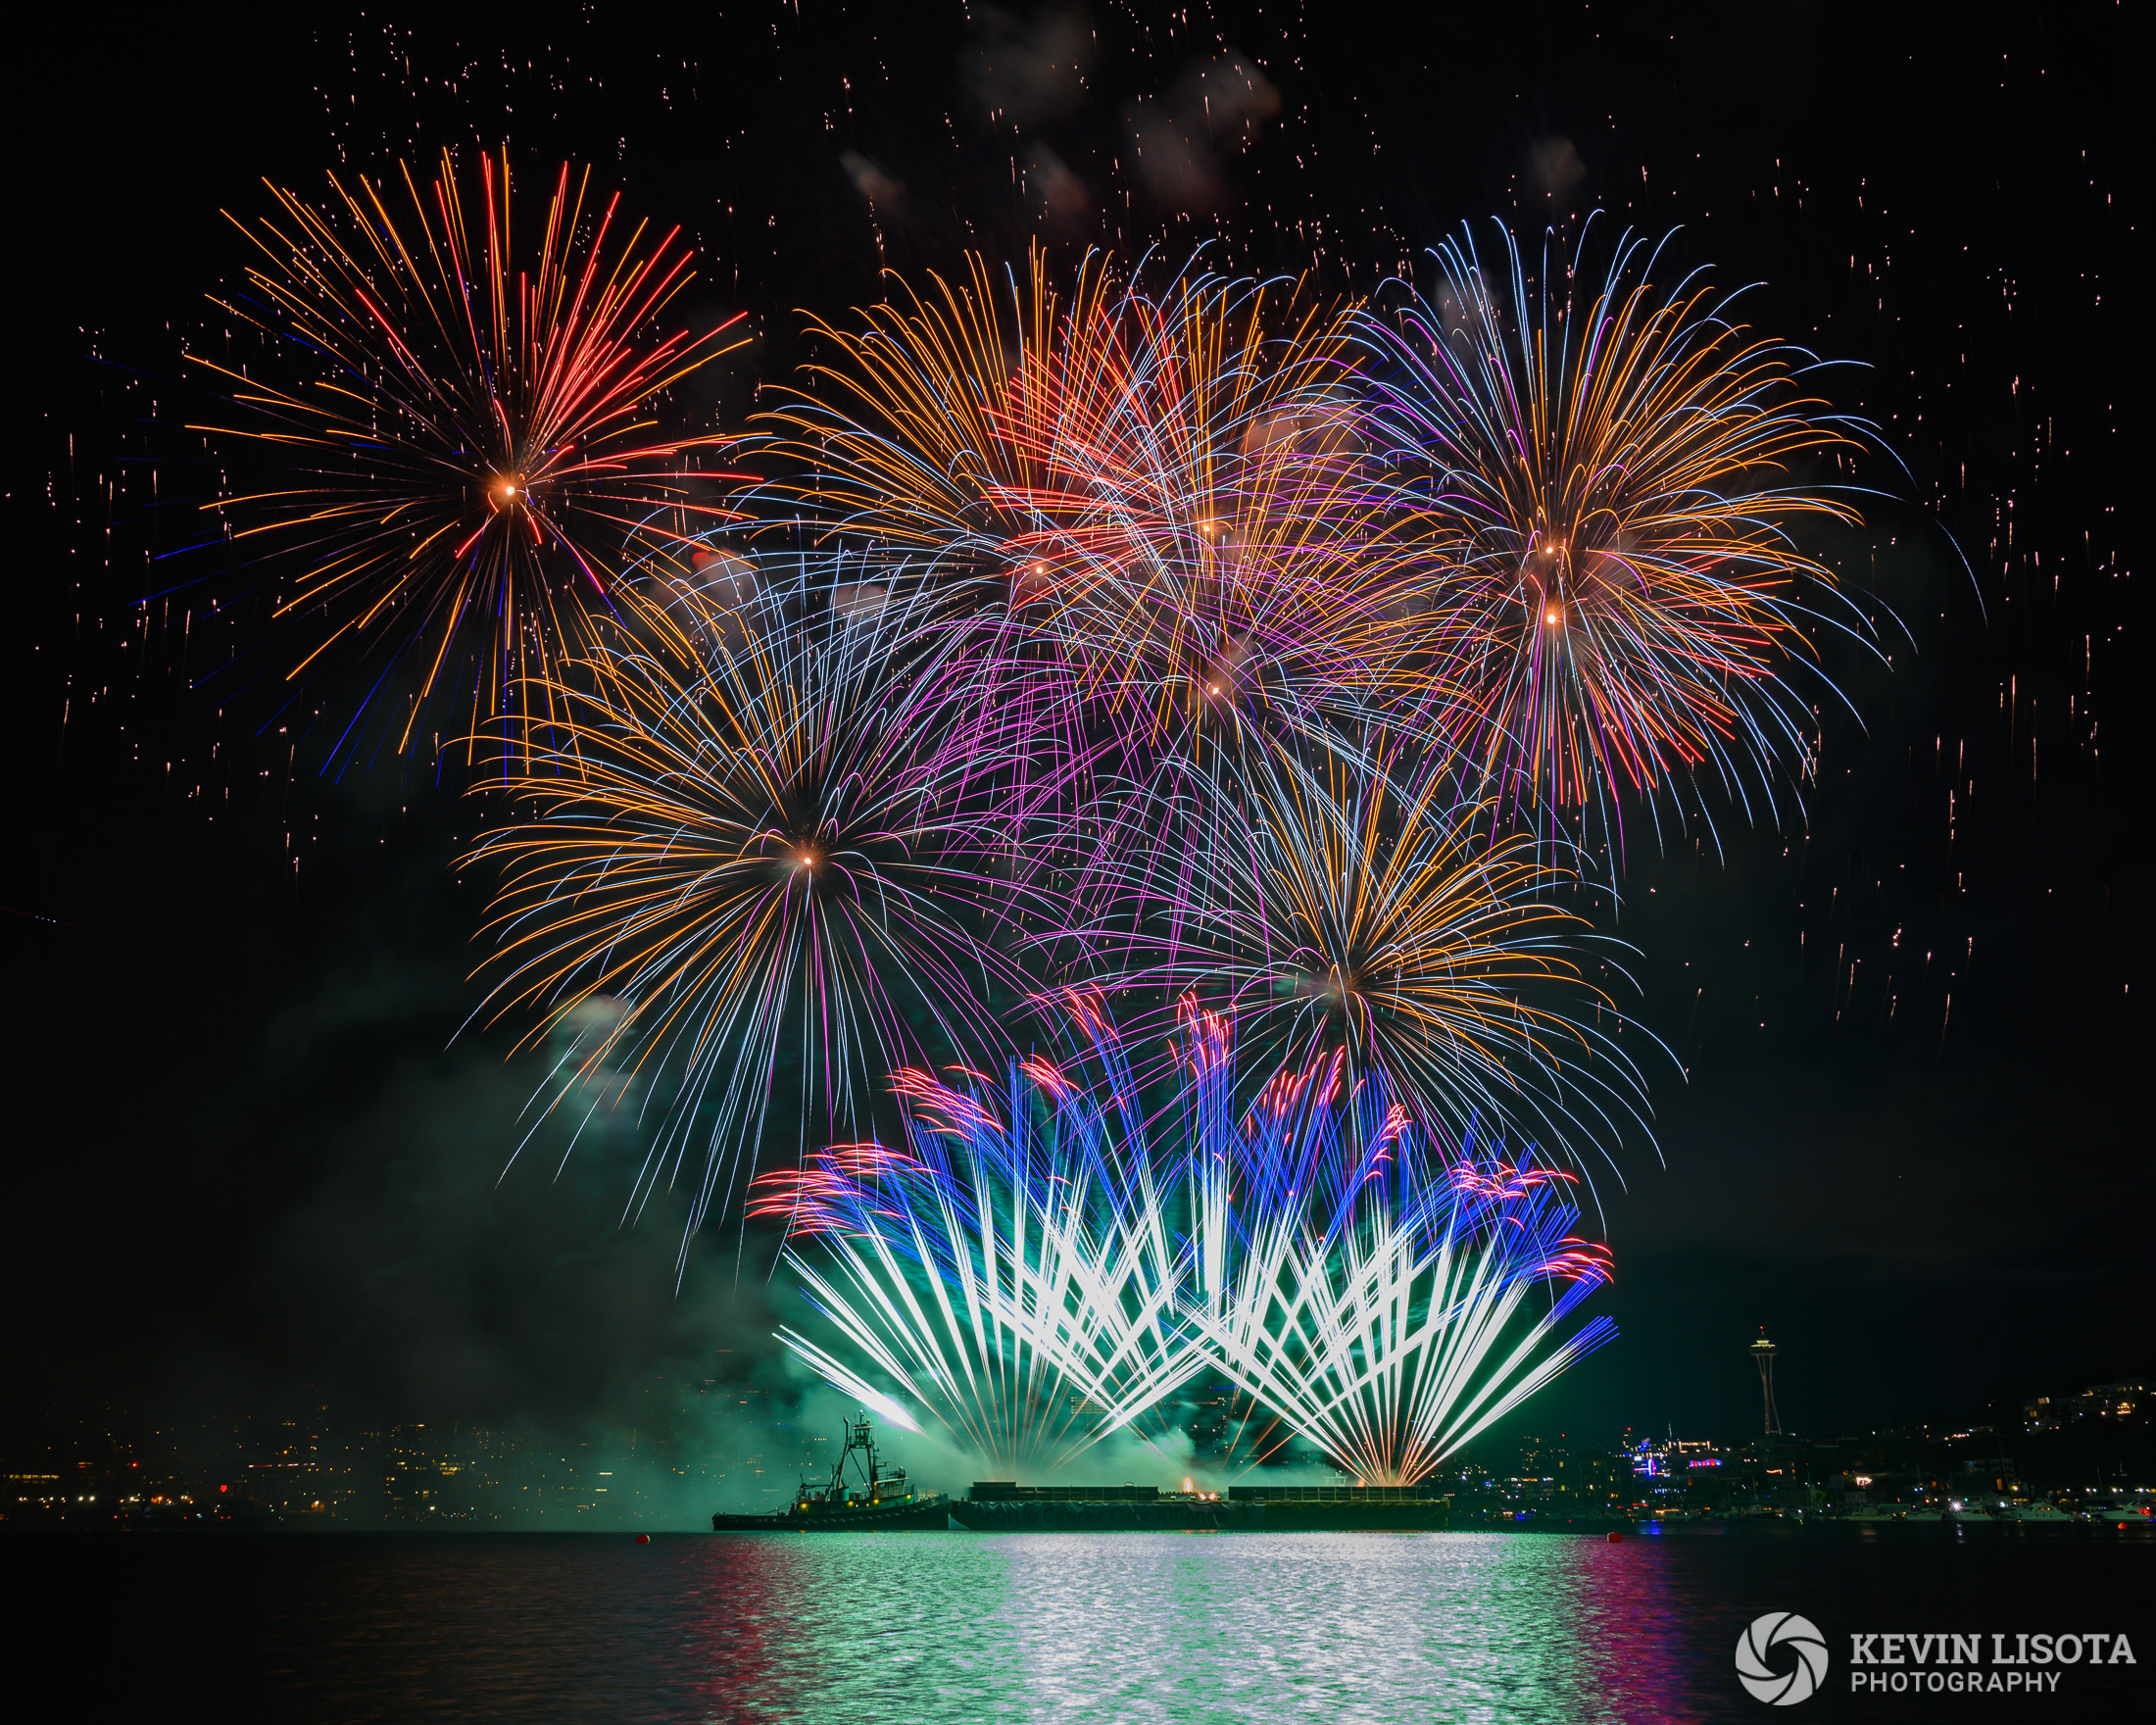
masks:
MULTIPOLYGON (((1328 1475, 1309 1453, 1274 1455, 1255 1468, 1235 1462, 1225 1432, 1205 1419, 1214 1389, 1231 1386, 1199 1384, 1190 1397, 1192 1417, 1181 1427, 1190 1449, 1125 1447, 1059 1479, 1115 1473, 1160 1490, 1188 1490, 1192 1481, 1225 1490, 1328 1475)), ((1552 1427, 1533 1412, 1432 1477, 1453 1496, 1462 1524, 1531 1520, 1537 1507, 1546 1516, 1632 1516, 1701 1503, 1712 1509, 1716 1501, 1725 1512, 1843 1514, 1902 1501, 1897 1492, 1919 1486, 1919 1499, 1973 1492, 1979 1473, 1994 1479, 1984 1490, 2001 1503, 2139 1492, 2156 1479, 2150 1382, 2141 1378, 2061 1386, 2020 1404, 1971 1402, 1960 1419, 1936 1427, 1680 1434, 1667 1423, 1660 1432, 1593 1434, 1552 1427)), ((43 1443, 15 1438, 0 1451, 0 1522, 93 1529, 207 1516, 289 1529, 694 1529, 711 1509, 763 1512, 789 1499, 796 1479, 821 1479, 849 1414, 830 1393, 800 1408, 768 1389, 705 1378, 647 1384, 640 1419, 614 1432, 548 1432, 528 1421, 364 1423, 317 1404, 151 1430, 144 1417, 108 1408, 71 1434, 47 1427, 43 1443)), ((981 1468, 981 1458, 901 1432, 884 1440, 925 1490, 959 1496, 981 1468)))

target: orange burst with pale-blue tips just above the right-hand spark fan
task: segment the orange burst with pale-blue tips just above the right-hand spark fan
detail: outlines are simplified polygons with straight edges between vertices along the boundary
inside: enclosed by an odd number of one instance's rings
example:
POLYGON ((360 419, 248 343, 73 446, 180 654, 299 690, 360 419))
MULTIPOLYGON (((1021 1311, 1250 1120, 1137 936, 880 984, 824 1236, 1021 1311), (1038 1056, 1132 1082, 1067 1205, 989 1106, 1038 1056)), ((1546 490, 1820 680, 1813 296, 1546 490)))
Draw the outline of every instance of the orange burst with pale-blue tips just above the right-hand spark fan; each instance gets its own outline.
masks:
POLYGON ((1481 1119, 1583 1167, 1595 1147, 1606 1158, 1645 1132, 1645 1085, 1623 1013, 1583 972, 1589 925, 1559 901, 1576 875, 1531 837, 1492 832, 1449 774, 1395 765, 1322 757, 1246 776, 1216 899, 1184 897, 1179 858, 1141 856, 1125 888, 1147 906, 1138 932, 1102 942, 1121 988, 1220 1003, 1257 1070, 1339 1052, 1350 1082, 1382 1074, 1453 1143, 1481 1119))

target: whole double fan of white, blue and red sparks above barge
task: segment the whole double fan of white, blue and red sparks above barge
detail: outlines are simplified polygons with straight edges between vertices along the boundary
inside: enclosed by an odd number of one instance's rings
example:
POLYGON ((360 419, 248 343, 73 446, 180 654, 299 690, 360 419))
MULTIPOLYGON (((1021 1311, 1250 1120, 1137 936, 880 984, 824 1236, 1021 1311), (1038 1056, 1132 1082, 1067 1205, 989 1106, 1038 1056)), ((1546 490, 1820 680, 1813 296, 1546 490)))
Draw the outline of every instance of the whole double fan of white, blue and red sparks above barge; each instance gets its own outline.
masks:
POLYGON ((910 1151, 845 1145, 759 1182, 867 1363, 783 1330, 828 1382, 1015 1475, 1216 1367, 1358 1477, 1408 1484, 1615 1333, 1600 1317, 1548 1346, 1608 1281, 1572 1233, 1572 1175, 1473 1138, 1429 1160, 1337 1052, 1240 1108, 1233 1026, 1194 1005, 1175 1102, 1149 1119, 1100 996, 1069 1005, 1102 1076, 1035 1059, 992 1098, 906 1072, 910 1151))

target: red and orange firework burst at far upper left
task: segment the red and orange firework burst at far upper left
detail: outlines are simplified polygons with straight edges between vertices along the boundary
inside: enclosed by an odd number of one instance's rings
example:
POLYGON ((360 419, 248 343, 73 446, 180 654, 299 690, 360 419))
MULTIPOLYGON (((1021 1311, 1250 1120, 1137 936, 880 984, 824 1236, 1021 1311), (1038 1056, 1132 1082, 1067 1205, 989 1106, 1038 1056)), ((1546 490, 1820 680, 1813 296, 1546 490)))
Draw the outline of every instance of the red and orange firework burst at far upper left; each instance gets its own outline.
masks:
POLYGON ((724 518, 692 470, 731 440, 662 436, 658 412, 746 341, 740 317, 649 334, 692 280, 679 231, 617 235, 619 196, 597 205, 589 172, 563 166, 528 254, 507 153, 481 157, 476 209, 448 153, 431 185, 401 181, 397 196, 332 175, 321 205, 272 185, 276 216, 233 218, 261 252, 250 291, 218 302, 270 336, 272 377, 190 356, 248 410, 190 429, 295 464, 278 487, 207 505, 298 567, 276 615, 310 645, 289 681, 332 649, 377 662, 334 753, 358 746, 382 690, 407 703, 382 720, 399 753, 429 731, 498 720, 513 737, 520 718, 552 718, 517 701, 552 696, 565 658, 593 662, 593 623, 636 606, 612 576, 623 541, 724 518))

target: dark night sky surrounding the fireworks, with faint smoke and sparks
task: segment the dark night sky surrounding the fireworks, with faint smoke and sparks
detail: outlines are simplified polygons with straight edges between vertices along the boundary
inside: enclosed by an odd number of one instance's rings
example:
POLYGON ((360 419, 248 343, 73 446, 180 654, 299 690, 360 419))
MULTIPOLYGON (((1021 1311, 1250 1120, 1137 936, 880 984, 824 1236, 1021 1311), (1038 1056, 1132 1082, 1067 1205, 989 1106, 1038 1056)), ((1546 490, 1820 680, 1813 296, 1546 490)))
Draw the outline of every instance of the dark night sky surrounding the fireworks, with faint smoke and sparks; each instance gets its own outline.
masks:
POLYGON ((1240 267, 1341 291, 1462 220, 1570 244, 1602 207, 1761 282, 1753 319, 1850 360, 1837 403, 1897 457, 1865 474, 1891 494, 1867 528, 1828 546, 1891 666, 1828 656, 1854 718, 1830 716, 1805 815, 1725 809, 1718 839, 1667 850, 1634 824, 1617 932, 1688 1080, 1649 1074, 1660 1160, 1632 1145, 1604 1182, 1623 1339, 1529 1423, 1738 1436, 1759 1324, 1809 1432, 2156 1363, 2122 11, 384 11, 216 34, 43 9, 15 43, 19 1406, 313 1382, 390 1414, 576 1419, 768 1328, 716 1240, 675 1300, 673 1218, 617 1231, 604 1154, 496 1186, 530 1085, 505 1044, 451 1041, 476 998, 481 886, 448 869, 472 804, 392 770, 319 776, 267 681, 198 681, 224 651, 190 634, 203 586, 136 604, 175 567, 250 580, 162 558, 216 483, 157 420, 241 261, 220 209, 261 211, 263 175, 310 190, 502 138, 593 162, 692 235, 699 310, 759 332, 729 425, 791 364, 796 308, 1035 231, 1173 254, 1216 235, 1240 267), (1147 179, 1132 127, 1201 104, 1229 47, 1279 112, 1147 179), (1082 80, 1037 71, 1069 50, 1082 80))

